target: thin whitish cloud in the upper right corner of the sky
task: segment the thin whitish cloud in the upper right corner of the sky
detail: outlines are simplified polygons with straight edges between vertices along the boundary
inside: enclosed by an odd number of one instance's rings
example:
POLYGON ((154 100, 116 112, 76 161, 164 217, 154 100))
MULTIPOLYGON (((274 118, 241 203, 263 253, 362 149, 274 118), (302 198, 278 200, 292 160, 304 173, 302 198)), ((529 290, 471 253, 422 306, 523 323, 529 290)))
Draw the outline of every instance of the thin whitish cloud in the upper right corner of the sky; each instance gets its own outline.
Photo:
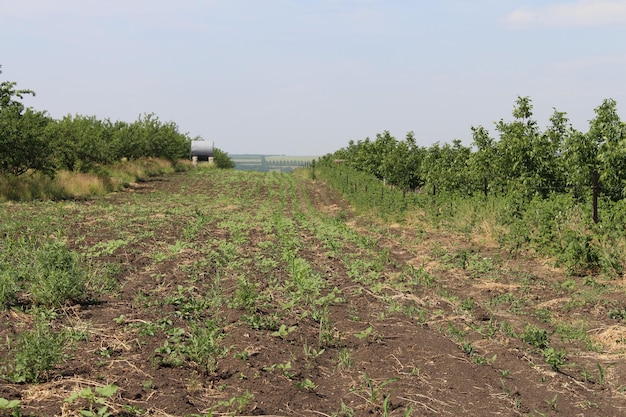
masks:
POLYGON ((626 0, 579 0, 522 7, 502 21, 513 28, 626 26, 626 0))

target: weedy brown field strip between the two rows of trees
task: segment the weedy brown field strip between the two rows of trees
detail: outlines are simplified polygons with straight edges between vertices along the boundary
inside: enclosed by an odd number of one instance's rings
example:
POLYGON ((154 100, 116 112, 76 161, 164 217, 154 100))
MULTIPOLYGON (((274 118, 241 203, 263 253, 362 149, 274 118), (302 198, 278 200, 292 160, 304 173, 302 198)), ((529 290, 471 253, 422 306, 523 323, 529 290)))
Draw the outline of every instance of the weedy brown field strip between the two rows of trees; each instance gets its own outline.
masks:
POLYGON ((357 213, 306 171, 5 203, 0 239, 0 416, 626 413, 623 277, 357 213), (31 277, 60 262, 73 302, 31 277))

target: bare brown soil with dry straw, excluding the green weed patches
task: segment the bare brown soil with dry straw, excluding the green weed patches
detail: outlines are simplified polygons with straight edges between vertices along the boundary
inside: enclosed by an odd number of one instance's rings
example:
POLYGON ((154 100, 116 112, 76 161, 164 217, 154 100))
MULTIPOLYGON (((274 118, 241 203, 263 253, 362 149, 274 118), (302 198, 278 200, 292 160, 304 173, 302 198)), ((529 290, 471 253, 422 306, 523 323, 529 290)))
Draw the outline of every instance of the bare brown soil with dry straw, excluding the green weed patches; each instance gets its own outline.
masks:
MULTIPOLYGON (((276 198, 272 183, 261 174, 235 175, 241 179, 229 183, 227 192, 215 175, 184 174, 97 201, 66 203, 62 210, 52 205, 50 212, 59 216, 52 223, 63 228, 68 245, 77 251, 86 252, 99 242, 128 241, 95 257, 99 264, 121 268, 119 291, 102 295, 97 303, 67 306, 59 326, 83 329, 88 336, 71 344, 68 358, 42 382, 0 380, 0 397, 19 399, 24 415, 38 416, 78 415, 78 406, 64 399, 73 391, 106 384, 120 387, 107 400, 108 410, 117 416, 136 415, 133 410, 139 409, 155 416, 210 415, 212 409, 213 415, 241 416, 626 413, 626 325, 607 315, 612 306, 624 307, 623 288, 595 278, 567 289, 562 283, 569 278, 545 260, 513 257, 491 243, 481 246, 472 236, 419 220, 386 225, 355 214, 322 182, 298 179, 293 205, 284 208, 293 215, 293 230, 302 242, 298 256, 323 276, 325 292, 334 287, 341 291, 342 301, 329 307, 332 328, 324 328, 298 306, 279 307, 286 298, 269 288, 268 280, 287 276, 287 266, 268 270, 257 264, 257 255, 271 253, 273 246, 263 243, 276 242, 276 230, 247 225, 237 249, 244 261, 239 270, 207 262, 215 260, 211 250, 235 239, 233 229, 221 226, 230 216, 246 213, 253 218, 261 203, 249 200, 276 198), (183 240, 194 210, 204 210, 194 206, 204 201, 194 197, 197 190, 219 200, 212 208, 212 223, 197 232, 190 241, 194 244, 155 260, 155 253, 167 253, 183 240), (230 201, 228 196, 242 198, 230 201), (345 216, 345 224, 367 236, 371 248, 346 240, 330 250, 319 235, 301 227, 299 210, 309 218, 345 216), (373 286, 350 276, 346 260, 361 252, 385 259, 373 286), (428 278, 411 280, 410 267, 428 278), (176 304, 176 296, 203 300, 218 271, 224 272, 220 280, 227 300, 234 299, 238 278, 245 276, 259 292, 271 294, 257 304, 256 314, 277 313, 280 323, 294 330, 284 338, 272 336, 272 330, 255 330, 241 321, 249 313, 228 303, 191 311, 182 302, 176 304), (191 275, 195 281, 189 280, 191 275), (600 287, 600 295, 592 291, 600 287), (166 354, 157 350, 166 340, 173 343, 168 332, 180 328, 188 335, 189 315, 212 320, 212 309, 220 310, 228 353, 211 370, 189 361, 167 363, 166 354), (528 323, 547 329, 550 346, 567 352, 558 370, 519 337, 528 323), (154 325, 153 334, 148 324, 154 325), (564 336, 564 324, 583 325, 588 338, 564 336), (323 331, 328 339, 321 343, 323 331), (306 347, 323 352, 306 355, 306 347), (350 354, 350 366, 340 360, 345 354, 350 354), (303 385, 308 380, 314 388, 303 385)), ((27 328, 28 317, 14 310, 0 312, 0 338, 27 328)))

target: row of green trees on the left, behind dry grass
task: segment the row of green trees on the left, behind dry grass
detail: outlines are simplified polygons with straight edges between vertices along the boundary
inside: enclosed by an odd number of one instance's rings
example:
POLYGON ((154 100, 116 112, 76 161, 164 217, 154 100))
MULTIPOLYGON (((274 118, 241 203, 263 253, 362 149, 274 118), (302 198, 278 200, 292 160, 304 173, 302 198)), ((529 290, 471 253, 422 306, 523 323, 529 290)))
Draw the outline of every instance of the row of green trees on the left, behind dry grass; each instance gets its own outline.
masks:
MULTIPOLYGON (((132 123, 81 115, 56 120, 26 107, 22 100, 28 95, 35 93, 18 89, 15 82, 0 83, 0 174, 85 172, 122 158, 189 158, 192 138, 154 114, 132 123)), ((219 161, 228 162, 222 151, 216 153, 219 161)))

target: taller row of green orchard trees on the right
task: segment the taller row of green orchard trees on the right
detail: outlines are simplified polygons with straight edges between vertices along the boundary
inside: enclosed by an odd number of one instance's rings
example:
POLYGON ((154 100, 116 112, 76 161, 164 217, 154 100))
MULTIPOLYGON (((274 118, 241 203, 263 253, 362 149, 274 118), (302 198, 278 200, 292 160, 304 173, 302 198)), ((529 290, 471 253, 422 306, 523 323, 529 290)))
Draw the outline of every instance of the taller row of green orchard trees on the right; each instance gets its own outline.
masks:
POLYGON ((430 186, 462 194, 519 192, 527 197, 573 190, 583 197, 595 179, 612 200, 626 196, 626 124, 614 100, 604 100, 595 109, 587 133, 574 129, 566 113, 557 110, 541 130, 532 108, 530 98, 518 97, 513 120, 496 123, 498 139, 482 126, 472 127, 470 147, 454 140, 426 148, 416 144, 412 132, 397 140, 385 131, 375 140, 350 141, 320 162, 344 160, 405 190, 430 186))

